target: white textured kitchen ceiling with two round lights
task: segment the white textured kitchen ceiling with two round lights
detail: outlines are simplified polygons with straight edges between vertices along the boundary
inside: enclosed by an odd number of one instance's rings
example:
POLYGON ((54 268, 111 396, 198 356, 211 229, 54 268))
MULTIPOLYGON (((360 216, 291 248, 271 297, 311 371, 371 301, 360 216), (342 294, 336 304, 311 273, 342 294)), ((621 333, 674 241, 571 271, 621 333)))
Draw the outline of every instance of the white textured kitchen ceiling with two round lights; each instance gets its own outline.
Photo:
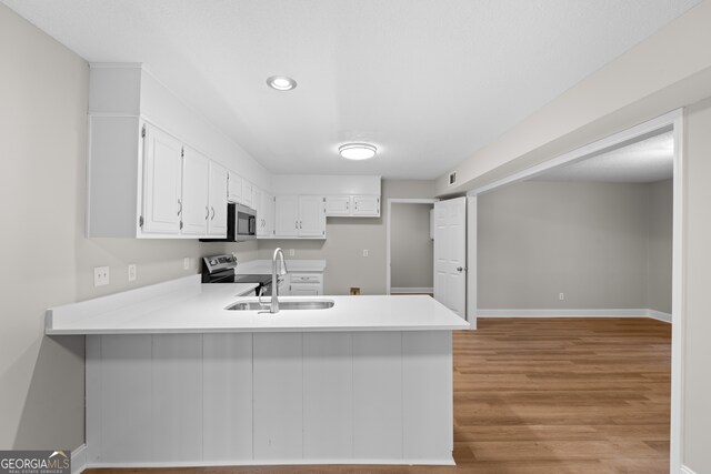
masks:
POLYGON ((143 62, 272 172, 432 179, 699 0, 1 0, 143 62), (267 77, 299 85, 278 92, 267 77), (380 149, 367 162, 343 141, 380 149))

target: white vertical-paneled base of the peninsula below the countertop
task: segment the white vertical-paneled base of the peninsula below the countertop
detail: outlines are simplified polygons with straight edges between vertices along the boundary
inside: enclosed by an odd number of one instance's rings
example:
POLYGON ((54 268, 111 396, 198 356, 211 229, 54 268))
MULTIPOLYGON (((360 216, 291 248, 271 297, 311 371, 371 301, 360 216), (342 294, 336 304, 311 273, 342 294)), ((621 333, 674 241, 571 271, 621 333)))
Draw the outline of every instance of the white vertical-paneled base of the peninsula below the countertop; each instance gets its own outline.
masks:
POLYGON ((87 464, 451 464, 451 331, 88 335, 87 464))

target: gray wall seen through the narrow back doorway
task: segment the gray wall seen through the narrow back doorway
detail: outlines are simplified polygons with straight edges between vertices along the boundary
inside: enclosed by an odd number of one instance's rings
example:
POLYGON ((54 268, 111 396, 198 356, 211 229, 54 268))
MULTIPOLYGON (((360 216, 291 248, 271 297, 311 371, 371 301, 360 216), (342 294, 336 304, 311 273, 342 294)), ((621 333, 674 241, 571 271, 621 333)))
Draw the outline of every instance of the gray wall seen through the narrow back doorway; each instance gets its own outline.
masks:
POLYGON ((432 288, 434 241, 430 239, 431 209, 432 204, 392 204, 390 286, 432 288))

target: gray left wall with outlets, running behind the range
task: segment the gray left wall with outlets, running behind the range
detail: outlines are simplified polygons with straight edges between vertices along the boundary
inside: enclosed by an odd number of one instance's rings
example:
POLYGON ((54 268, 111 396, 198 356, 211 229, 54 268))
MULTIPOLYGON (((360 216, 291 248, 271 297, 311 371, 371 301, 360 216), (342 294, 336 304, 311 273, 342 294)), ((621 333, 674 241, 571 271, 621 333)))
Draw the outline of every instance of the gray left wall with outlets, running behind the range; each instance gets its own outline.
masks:
POLYGON ((0 450, 74 448, 84 441, 84 340, 43 336, 44 310, 197 273, 208 253, 249 260, 257 243, 86 239, 88 64, 3 4, 0 57, 0 450), (94 289, 99 265, 110 265, 111 284, 94 289))

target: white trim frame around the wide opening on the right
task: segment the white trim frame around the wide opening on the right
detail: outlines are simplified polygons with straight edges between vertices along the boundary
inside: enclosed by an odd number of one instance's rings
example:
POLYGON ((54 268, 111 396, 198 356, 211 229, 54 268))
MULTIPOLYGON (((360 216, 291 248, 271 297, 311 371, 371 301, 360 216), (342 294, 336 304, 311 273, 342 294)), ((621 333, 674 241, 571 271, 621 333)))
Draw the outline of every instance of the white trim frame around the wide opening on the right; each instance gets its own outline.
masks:
MULTIPOLYGON (((683 361, 682 349, 684 341, 684 301, 683 301, 683 270, 684 270, 684 248, 683 248, 683 200, 684 200, 684 159, 683 159, 683 117, 684 110, 677 109, 661 117, 640 123, 639 125, 614 133, 602 140, 589 143, 577 150, 572 150, 562 155, 552 158, 543 163, 519 171, 509 177, 475 188, 467 193, 470 210, 467 229, 467 251, 468 264, 471 271, 468 280, 468 314, 477 313, 477 196, 504 185, 523 181, 542 174, 553 168, 571 164, 600 154, 613 147, 624 145, 653 135, 663 130, 671 130, 674 137, 674 159, 673 159, 673 230, 672 230, 672 337, 671 337, 671 441, 670 441, 670 472, 681 472, 682 453, 682 396, 683 396, 683 361), (471 312, 471 313, 470 313, 471 312)), ((470 320, 472 321, 472 320, 470 320)), ((475 321, 475 319, 473 319, 475 321)))

